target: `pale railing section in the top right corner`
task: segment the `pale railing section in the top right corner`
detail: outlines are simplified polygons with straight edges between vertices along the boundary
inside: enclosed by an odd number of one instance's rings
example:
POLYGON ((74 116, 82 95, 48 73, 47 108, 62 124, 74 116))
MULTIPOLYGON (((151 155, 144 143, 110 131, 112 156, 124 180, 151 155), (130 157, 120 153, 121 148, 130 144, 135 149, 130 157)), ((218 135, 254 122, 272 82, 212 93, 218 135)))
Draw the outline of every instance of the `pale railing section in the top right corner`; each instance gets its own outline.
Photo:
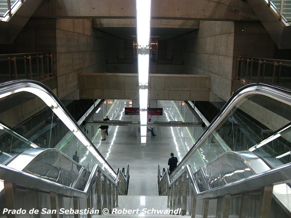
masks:
POLYGON ((283 19, 286 23, 291 22, 291 2, 290 0, 265 0, 268 7, 271 7, 278 15, 278 19, 283 19))

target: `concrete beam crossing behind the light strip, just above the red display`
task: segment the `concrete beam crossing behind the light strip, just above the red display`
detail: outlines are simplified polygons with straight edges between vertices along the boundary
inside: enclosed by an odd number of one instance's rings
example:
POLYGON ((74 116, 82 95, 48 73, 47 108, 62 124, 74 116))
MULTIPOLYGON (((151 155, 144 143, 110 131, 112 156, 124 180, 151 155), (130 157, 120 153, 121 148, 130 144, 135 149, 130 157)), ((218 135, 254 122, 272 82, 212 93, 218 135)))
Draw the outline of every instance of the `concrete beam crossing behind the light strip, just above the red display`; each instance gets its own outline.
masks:
MULTIPOLYGON (((137 74, 80 74, 81 99, 138 99, 137 74)), ((209 101, 210 77, 204 75, 149 75, 149 99, 209 101)))

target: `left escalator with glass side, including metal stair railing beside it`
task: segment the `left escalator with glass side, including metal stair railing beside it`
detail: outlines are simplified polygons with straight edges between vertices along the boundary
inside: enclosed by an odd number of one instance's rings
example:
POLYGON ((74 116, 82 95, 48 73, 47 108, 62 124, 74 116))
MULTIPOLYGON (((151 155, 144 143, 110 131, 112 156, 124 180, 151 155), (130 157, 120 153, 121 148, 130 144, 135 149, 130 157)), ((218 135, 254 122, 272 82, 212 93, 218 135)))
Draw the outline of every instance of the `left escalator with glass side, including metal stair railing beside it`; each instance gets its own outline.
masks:
POLYGON ((45 85, 0 84, 0 105, 1 218, 92 217, 111 213, 118 195, 127 195, 129 166, 115 172, 45 85), (49 122, 35 116, 39 125, 20 125, 39 111, 49 122))

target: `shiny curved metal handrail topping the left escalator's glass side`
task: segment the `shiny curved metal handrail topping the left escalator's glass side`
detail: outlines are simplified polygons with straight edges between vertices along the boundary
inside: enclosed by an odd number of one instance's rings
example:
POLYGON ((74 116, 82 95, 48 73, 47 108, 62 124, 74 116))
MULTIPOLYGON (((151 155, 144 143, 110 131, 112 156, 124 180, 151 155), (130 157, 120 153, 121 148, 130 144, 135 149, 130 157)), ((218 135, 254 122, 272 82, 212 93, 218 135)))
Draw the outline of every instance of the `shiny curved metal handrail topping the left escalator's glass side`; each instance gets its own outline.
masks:
MULTIPOLYGON (((86 139, 87 143, 90 143, 90 146, 94 149, 94 152, 98 154, 102 158, 105 164, 108 165, 108 167, 113 171, 114 177, 116 175, 113 168, 109 165, 109 163, 106 161, 106 159, 101 155, 101 153, 97 150, 96 146, 92 143, 92 141, 87 137, 87 135, 83 132, 82 128, 76 123, 74 118, 70 115, 70 113, 65 109, 61 101, 57 98, 55 93, 53 93, 46 85, 44 85, 41 82, 35 81, 35 80, 28 80, 28 79, 22 79, 22 80, 15 80, 15 81, 9 81, 0 84, 0 98, 4 96, 8 96, 10 94, 13 94, 14 91, 20 88, 36 88, 43 93, 46 93, 49 95, 51 100, 53 100, 57 107, 60 108, 65 115, 67 116, 68 120, 74 125, 74 128, 76 128, 81 134, 82 137, 86 139)), ((43 99, 44 100, 44 99, 43 99)), ((45 99, 48 100, 48 99, 45 99)))

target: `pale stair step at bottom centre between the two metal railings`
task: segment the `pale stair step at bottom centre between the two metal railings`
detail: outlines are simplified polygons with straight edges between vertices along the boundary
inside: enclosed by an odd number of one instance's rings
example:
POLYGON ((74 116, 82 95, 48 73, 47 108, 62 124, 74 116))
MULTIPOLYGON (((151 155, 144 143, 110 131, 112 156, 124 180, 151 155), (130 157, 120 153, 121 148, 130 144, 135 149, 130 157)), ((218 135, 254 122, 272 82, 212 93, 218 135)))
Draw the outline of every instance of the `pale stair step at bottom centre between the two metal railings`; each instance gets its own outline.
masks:
MULTIPOLYGON (((185 217, 181 215, 171 215, 169 212, 170 208, 167 207, 167 196, 127 195, 118 196, 118 207, 116 207, 116 213, 121 214, 108 214, 106 217, 185 217), (135 210, 134 214, 130 214, 133 213, 133 210, 135 210)), ((98 218, 98 215, 93 216, 93 218, 98 218)))

